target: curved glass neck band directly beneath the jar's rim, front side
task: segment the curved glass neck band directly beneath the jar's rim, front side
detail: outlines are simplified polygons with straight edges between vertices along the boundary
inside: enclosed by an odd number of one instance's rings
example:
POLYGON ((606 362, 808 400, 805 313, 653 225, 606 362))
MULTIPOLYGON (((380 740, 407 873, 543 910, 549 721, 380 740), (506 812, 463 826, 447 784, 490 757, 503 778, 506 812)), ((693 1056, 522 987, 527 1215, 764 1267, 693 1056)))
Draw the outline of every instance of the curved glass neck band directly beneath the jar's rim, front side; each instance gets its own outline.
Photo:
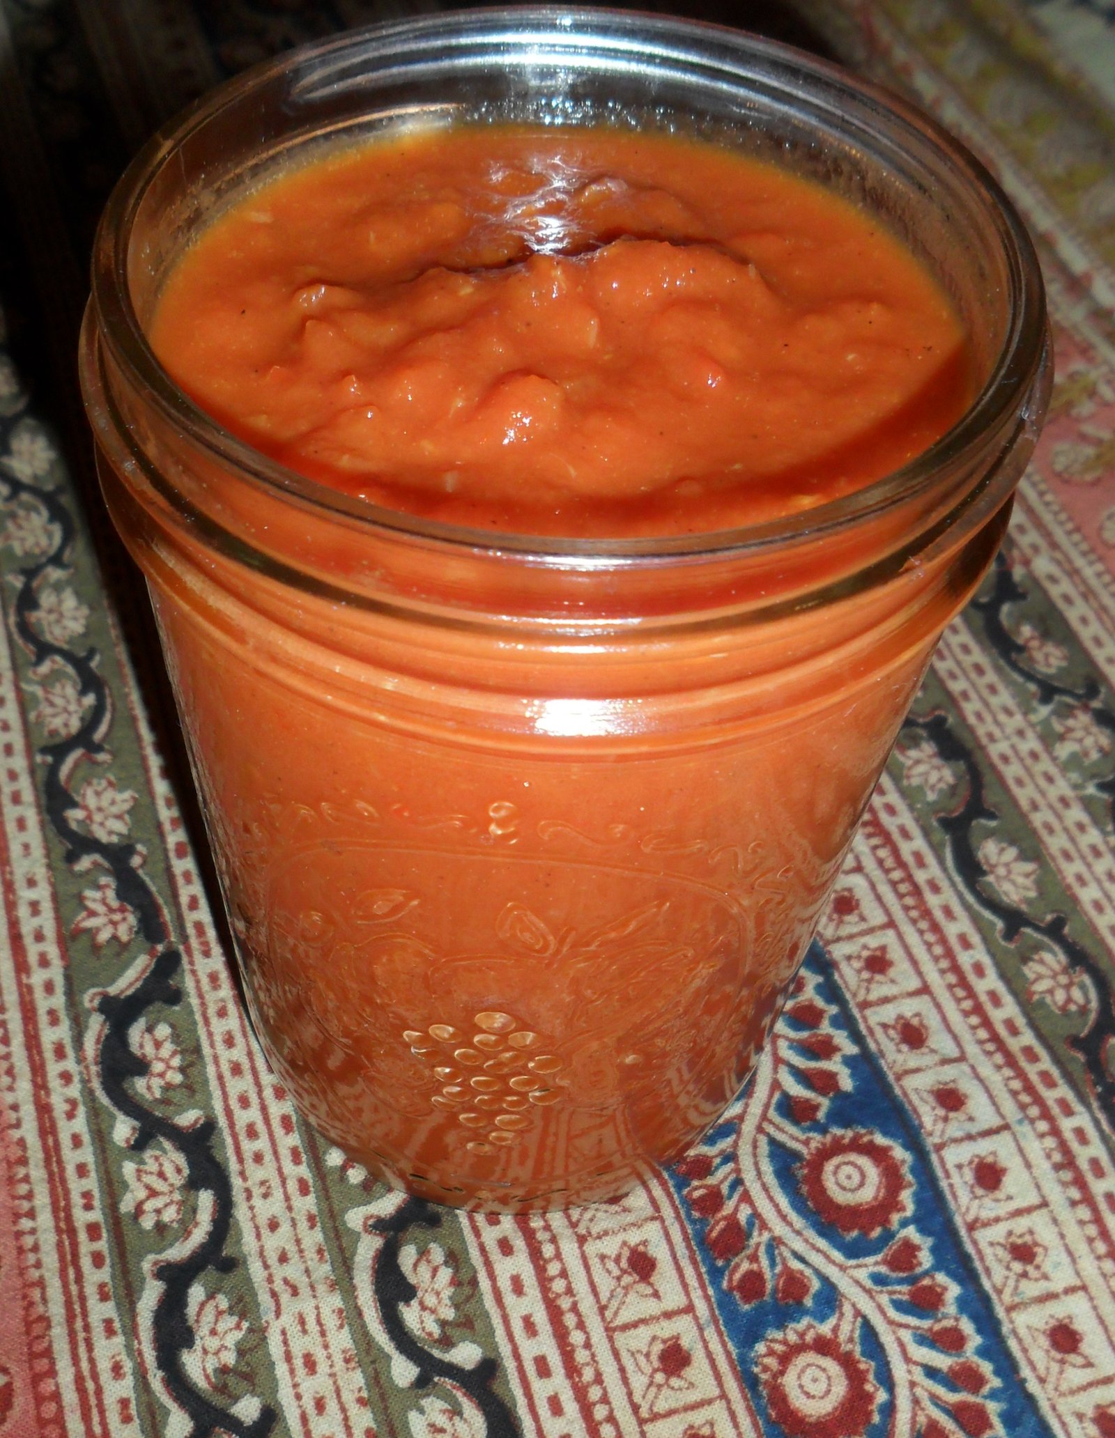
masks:
MULTIPOLYGON (((619 638, 637 628, 770 626, 880 592, 904 574, 951 562, 994 523, 1036 440, 1052 374, 1039 354, 1029 398, 988 430, 978 449, 939 466, 908 492, 850 515, 819 512, 814 526, 708 535, 657 548, 645 542, 551 545, 406 516, 367 518, 358 506, 314 503, 247 469, 214 459, 148 403, 115 364, 91 308, 82 336, 82 383, 98 444, 145 523, 171 546, 207 555, 296 595, 298 604, 344 605, 468 628, 514 623, 540 638, 619 638), (767 531, 767 532, 764 532, 767 531)), ((827 506, 826 506, 827 508, 827 506)))

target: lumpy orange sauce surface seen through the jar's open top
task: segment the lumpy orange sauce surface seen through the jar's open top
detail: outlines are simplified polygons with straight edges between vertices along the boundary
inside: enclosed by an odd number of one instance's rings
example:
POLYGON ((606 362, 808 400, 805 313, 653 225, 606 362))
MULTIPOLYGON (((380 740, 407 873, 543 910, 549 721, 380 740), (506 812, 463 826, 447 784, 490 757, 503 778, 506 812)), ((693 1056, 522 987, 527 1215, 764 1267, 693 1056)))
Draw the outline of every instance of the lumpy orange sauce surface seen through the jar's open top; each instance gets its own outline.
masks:
POLYGON ((151 342, 258 450, 419 516, 691 533, 855 490, 971 393, 876 221, 771 165, 611 129, 420 131, 237 201, 151 342))

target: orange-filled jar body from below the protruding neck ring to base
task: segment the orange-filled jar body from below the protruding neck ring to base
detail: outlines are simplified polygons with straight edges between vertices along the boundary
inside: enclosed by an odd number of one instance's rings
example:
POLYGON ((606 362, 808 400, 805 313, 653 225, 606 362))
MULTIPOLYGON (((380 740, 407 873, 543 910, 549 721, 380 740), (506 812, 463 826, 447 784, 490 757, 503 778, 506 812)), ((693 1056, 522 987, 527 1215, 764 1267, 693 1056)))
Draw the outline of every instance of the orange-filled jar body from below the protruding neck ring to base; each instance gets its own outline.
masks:
POLYGON ((292 621, 243 569, 144 548, 104 482, 270 1064, 377 1176, 509 1211, 623 1192, 744 1084, 1006 522, 882 595, 718 633, 744 667, 718 684, 693 682, 708 636, 682 631, 604 653, 518 637, 493 690, 483 637, 357 634, 306 597, 292 621), (781 659, 754 672, 764 650, 781 659), (632 666, 643 692, 620 696, 632 666))

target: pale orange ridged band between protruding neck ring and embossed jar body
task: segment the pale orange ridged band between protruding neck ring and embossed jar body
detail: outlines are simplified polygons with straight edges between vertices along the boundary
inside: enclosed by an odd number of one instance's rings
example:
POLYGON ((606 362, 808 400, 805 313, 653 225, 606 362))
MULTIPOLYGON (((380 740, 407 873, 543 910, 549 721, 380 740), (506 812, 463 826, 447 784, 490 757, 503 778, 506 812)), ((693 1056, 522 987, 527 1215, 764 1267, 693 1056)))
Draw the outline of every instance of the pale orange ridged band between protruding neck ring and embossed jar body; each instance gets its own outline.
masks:
MULTIPOLYGON (((469 743, 531 743, 540 732, 577 748, 722 742, 803 713, 856 703, 866 687, 912 683, 944 626, 986 572, 1010 499, 981 523, 952 525, 888 575, 800 603, 693 601, 673 614, 590 617, 468 610, 368 587, 292 584, 223 552, 210 535, 168 526, 104 449, 114 521, 145 572, 170 651, 201 644, 207 663, 255 670, 293 702, 329 703, 407 732, 469 743), (914 676, 914 677, 911 677, 914 676), (301 699, 299 699, 301 696, 301 699), (547 728, 548 726, 548 728, 547 728)), ((975 506, 970 506, 973 513, 975 506)), ((630 591, 627 591, 630 600, 630 591)))

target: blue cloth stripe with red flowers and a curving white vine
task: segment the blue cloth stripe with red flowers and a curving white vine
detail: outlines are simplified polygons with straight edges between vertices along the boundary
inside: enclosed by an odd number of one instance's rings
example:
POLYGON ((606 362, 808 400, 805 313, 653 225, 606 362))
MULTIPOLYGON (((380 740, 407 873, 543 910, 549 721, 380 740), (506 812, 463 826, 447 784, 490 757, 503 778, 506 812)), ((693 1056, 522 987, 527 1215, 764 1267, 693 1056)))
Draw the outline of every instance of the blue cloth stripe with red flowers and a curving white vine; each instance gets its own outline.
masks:
MULTIPOLYGON (((911 1051, 934 1041, 914 1011, 892 1027, 911 1051)), ((965 1103, 957 1084, 938 1089, 942 1113, 965 1103)), ((921 1122, 814 945, 751 1090, 672 1175, 771 1435, 1049 1431, 1017 1380, 921 1122)), ((993 1162, 974 1191, 1003 1181, 993 1162)), ((1017 1247, 1014 1261, 1034 1260, 1024 1235, 1017 1247)))

